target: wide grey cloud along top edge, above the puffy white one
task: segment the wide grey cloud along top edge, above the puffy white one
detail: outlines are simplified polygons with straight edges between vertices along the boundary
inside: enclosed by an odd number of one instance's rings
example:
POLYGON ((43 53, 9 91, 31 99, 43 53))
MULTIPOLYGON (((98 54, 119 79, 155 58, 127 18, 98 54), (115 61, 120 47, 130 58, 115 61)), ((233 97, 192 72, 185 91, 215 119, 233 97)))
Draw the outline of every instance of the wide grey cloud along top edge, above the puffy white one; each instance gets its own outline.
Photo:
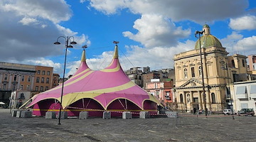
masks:
POLYGON ((173 21, 191 20, 196 23, 211 22, 242 16, 248 6, 244 0, 90 0, 90 6, 106 14, 129 9, 133 13, 158 13, 173 21), (221 9, 221 11, 220 11, 221 9), (234 11, 235 9, 235 11, 234 11))

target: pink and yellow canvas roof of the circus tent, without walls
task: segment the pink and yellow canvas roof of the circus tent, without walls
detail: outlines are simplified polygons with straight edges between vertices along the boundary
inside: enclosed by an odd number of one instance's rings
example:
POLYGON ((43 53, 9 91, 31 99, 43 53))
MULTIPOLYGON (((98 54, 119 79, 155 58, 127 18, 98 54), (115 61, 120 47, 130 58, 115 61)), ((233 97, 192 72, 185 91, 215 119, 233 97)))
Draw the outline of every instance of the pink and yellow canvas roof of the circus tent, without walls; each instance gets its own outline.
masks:
MULTIPOLYGON (((62 84, 36 94, 31 98, 27 108, 47 99, 56 99, 60 102, 61 89, 62 84)), ((62 107, 65 109, 83 98, 95 100, 103 109, 107 109, 117 99, 127 99, 142 110, 145 101, 160 104, 158 99, 134 84, 125 75, 119 64, 117 45, 112 62, 103 70, 90 70, 85 60, 85 50, 82 51, 80 67, 73 77, 64 82, 62 107)))

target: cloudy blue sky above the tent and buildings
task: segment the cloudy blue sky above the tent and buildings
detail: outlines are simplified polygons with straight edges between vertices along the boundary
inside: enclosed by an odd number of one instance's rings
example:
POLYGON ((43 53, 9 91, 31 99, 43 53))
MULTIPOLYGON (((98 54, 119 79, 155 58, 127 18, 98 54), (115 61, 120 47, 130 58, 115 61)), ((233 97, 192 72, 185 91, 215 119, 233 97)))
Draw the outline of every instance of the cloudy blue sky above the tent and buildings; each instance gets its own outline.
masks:
POLYGON ((228 53, 256 54, 254 0, 3 0, 0 1, 0 61, 54 67, 63 73, 64 40, 78 42, 68 50, 67 76, 80 64, 82 45, 87 64, 99 70, 112 60, 119 41, 124 70, 174 67, 174 55, 193 50, 195 31, 210 26, 228 53))

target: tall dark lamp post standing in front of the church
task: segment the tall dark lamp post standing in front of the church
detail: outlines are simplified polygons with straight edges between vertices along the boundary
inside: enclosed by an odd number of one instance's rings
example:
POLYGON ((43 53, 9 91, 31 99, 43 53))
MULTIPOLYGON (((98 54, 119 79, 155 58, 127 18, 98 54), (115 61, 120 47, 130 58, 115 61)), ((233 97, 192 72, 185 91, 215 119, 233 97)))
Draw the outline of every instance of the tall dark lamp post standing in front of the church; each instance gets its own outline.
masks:
POLYGON ((204 109, 205 109, 205 114, 207 116, 207 107, 206 107, 206 89, 205 89, 205 83, 204 83, 204 79, 203 79, 203 60, 202 60, 202 47, 201 47, 201 35, 204 33, 205 31, 196 31, 195 32, 195 36, 198 34, 199 35, 199 48, 200 48, 200 60, 201 60, 201 73, 202 73, 202 82, 203 82, 203 104, 204 104, 204 109))

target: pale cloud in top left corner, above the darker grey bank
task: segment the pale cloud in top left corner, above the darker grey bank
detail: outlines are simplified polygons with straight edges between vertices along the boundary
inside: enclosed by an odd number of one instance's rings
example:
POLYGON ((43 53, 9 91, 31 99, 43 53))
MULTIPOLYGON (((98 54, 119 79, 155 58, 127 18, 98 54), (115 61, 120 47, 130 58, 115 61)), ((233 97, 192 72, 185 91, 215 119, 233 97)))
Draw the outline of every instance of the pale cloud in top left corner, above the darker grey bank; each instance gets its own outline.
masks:
POLYGON ((64 0, 13 0, 0 2, 0 8, 3 11, 11 11, 16 16, 24 16, 27 18, 44 18, 53 23, 60 21, 68 21, 72 16, 68 4, 64 0))

